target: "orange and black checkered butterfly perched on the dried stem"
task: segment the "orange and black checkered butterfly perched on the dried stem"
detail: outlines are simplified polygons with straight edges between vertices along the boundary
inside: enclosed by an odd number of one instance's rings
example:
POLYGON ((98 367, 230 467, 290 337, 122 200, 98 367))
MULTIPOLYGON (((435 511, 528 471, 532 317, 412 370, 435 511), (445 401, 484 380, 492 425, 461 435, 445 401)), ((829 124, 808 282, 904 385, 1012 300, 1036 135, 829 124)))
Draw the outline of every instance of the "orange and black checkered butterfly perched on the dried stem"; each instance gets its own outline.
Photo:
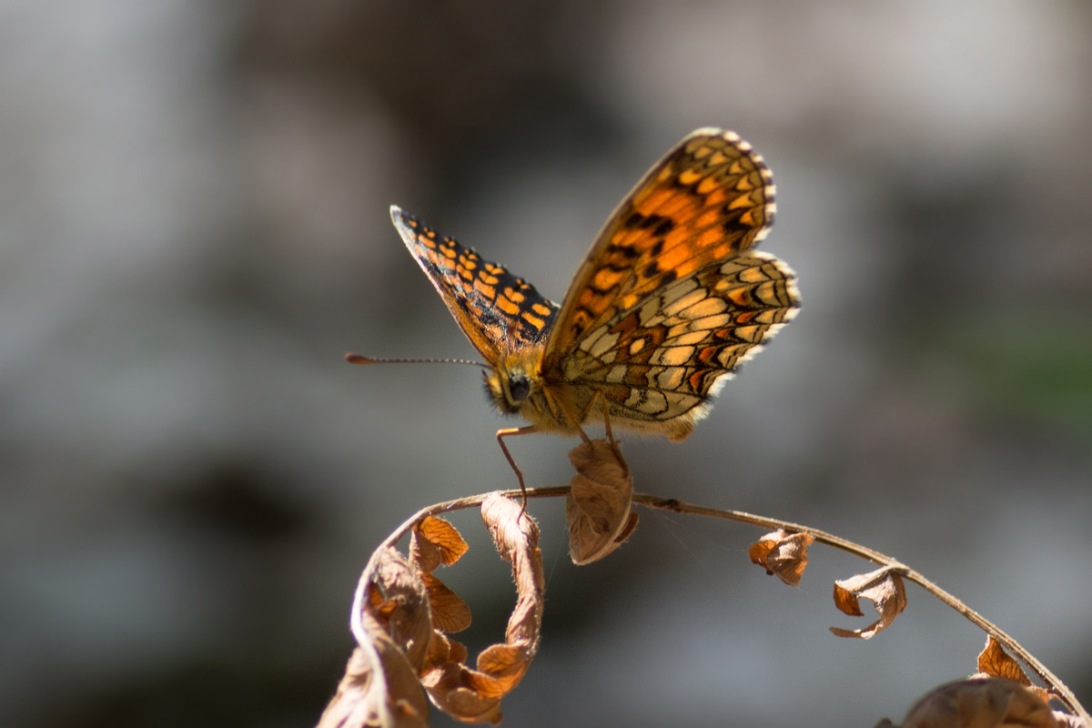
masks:
MULTIPOLYGON (((684 440, 733 372, 799 308, 796 274, 753 250, 773 223, 770 170, 731 131, 699 129, 621 201, 562 303, 397 206, 391 218, 486 361, 498 410, 579 434, 604 422, 684 440)), ((376 361, 349 355, 351 361, 376 361)))

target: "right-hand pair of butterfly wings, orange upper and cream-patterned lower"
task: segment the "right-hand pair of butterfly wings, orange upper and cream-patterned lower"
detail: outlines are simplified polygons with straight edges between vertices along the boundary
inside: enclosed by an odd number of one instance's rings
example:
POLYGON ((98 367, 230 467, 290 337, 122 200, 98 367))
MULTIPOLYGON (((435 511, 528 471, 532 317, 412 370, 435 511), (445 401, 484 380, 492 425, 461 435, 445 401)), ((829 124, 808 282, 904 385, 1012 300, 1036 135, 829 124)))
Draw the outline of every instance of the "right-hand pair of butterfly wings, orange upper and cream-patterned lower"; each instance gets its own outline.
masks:
POLYGON ((750 250, 773 222, 773 193, 762 158, 736 134, 689 134, 600 232, 544 371, 601 391, 621 423, 689 434, 724 377, 799 307, 792 270, 750 250))

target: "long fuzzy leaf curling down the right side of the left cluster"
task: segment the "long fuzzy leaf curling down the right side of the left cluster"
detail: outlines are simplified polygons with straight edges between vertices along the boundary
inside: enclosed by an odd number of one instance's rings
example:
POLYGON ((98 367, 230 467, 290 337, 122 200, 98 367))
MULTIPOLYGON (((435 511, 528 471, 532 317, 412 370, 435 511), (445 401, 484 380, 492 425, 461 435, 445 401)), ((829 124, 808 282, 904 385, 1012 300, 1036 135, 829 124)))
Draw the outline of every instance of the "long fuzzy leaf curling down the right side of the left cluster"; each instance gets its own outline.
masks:
POLYGON ((519 503, 499 494, 482 504, 482 520, 497 551, 512 564, 517 602, 505 644, 487 647, 477 669, 466 666, 466 649, 437 633, 422 681, 443 712, 466 723, 500 723, 500 699, 519 683, 538 648, 544 580, 538 527, 519 503))

